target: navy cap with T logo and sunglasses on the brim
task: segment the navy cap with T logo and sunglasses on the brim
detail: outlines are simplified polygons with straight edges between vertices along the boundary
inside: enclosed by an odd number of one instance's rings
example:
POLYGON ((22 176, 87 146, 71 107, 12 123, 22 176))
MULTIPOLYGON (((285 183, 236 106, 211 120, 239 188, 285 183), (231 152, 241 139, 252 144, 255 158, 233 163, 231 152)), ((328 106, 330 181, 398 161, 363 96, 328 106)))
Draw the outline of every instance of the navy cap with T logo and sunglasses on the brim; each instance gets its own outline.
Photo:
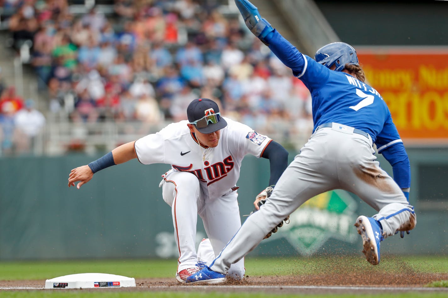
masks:
POLYGON ((202 133, 212 133, 227 126, 221 117, 220 108, 209 98, 196 98, 187 107, 187 117, 190 124, 202 133))

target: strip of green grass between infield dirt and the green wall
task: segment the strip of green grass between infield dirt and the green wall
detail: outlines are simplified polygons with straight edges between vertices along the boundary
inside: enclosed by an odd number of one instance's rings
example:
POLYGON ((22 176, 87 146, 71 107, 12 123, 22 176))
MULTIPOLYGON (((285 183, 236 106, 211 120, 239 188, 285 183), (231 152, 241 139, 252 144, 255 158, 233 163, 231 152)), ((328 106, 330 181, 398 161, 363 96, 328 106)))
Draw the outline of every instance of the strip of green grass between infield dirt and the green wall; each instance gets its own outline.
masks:
MULTIPOLYGON (((246 275, 297 275, 344 273, 347 270, 368 269, 377 272, 447 273, 448 257, 384 256, 379 266, 371 266, 358 256, 248 258, 246 275)), ((134 278, 174 277, 177 260, 48 260, 0 262, 0 280, 49 279, 85 272, 118 274, 134 278)))

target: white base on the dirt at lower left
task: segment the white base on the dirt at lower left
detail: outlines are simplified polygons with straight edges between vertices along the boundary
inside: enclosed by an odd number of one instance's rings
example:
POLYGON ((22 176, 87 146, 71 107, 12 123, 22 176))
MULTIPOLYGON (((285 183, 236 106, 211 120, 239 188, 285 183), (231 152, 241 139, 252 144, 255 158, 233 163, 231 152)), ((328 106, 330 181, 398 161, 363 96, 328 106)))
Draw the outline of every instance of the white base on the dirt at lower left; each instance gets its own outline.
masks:
POLYGON ((45 289, 86 289, 135 287, 135 279, 107 273, 78 273, 45 281, 45 289))

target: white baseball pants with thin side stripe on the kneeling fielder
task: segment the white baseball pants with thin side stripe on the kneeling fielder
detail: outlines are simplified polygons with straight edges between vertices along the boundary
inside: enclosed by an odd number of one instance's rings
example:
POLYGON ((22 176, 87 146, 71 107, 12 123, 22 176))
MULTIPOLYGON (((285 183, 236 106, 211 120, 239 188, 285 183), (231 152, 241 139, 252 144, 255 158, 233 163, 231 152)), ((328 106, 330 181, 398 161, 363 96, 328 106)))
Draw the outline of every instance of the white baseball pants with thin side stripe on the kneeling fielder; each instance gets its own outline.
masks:
MULTIPOLYGON (((166 173, 161 185, 164 201, 172 210, 174 236, 179 249, 177 272, 195 267, 198 259, 211 262, 241 227, 237 192, 210 198, 207 188, 201 187, 195 175, 174 170, 166 173), (198 252, 199 258, 195 249, 198 215, 202 218, 214 252, 211 255, 207 246, 202 243, 199 249, 205 251, 198 252)), ((228 272, 236 277, 243 277, 244 259, 229 266, 228 272)))

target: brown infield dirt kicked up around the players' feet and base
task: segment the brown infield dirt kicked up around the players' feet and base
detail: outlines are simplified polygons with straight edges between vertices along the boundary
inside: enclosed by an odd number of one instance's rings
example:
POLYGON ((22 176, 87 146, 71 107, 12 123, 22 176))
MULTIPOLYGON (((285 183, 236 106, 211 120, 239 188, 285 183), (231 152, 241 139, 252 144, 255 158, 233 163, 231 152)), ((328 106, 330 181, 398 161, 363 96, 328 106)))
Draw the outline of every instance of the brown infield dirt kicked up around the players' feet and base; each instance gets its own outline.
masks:
MULTIPOLYGON (((310 262, 309 266, 314 267, 313 272, 319 274, 291 274, 291 275, 275 275, 271 272, 265 276, 249 276, 246 275, 242 280, 228 280, 221 285, 210 286, 209 290, 235 292, 235 291, 253 291, 258 288, 265 287, 263 291, 274 293, 279 290, 285 291, 282 287, 292 286, 314 286, 314 287, 330 287, 345 286, 345 290, 350 287, 375 287, 375 288, 402 288, 403 291, 409 288, 422 288, 425 285, 440 280, 448 280, 448 272, 437 273, 425 272, 422 268, 427 266, 418 266, 413 264, 410 266, 399 257, 388 256, 387 262, 383 266, 365 266, 359 262, 351 263, 347 258, 333 257, 328 258, 326 262, 310 262), (257 286, 254 287, 253 286, 257 286), (272 288, 269 288, 272 286, 272 288), (406 288, 406 289, 405 289, 406 288)), ((300 272, 300 268, 294 270, 300 272)), ((3 280, 0 281, 0 289, 8 288, 32 288, 43 289, 45 280, 3 280)), ((122 291, 194 291, 199 290, 196 285, 180 284, 175 277, 155 277, 155 278, 136 278, 135 288, 120 288, 122 291)), ((207 287, 207 286, 206 286, 207 287)), ((258 290, 260 290, 258 289, 258 290)), ((90 289, 95 290, 95 289, 90 289)), ((201 287, 201 291, 204 287, 201 287)), ((208 291, 207 289, 205 289, 208 291)), ((334 289, 333 289, 334 290, 334 289)), ((359 289, 358 289, 359 290, 359 289)), ((448 292, 448 288, 439 289, 448 292)), ((326 289, 331 293, 332 289, 326 289)), ((322 289, 316 289, 312 293, 322 293, 322 289), (320 291, 320 292, 319 292, 320 291)))

